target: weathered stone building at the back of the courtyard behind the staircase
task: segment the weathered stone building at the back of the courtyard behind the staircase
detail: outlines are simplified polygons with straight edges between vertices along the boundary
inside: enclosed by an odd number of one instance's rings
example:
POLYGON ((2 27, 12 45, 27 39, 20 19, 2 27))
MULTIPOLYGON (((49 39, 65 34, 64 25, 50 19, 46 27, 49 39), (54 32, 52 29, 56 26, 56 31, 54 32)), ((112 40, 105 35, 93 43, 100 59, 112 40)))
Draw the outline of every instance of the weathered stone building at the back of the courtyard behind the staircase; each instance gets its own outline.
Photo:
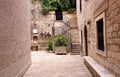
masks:
MULTIPOLYGON (((56 20, 57 16, 55 11, 50 11, 46 15, 43 15, 40 1, 37 1, 35 4, 31 3, 32 50, 34 50, 34 48, 35 50, 41 50, 44 48, 46 49, 46 45, 47 45, 46 42, 48 38, 44 37, 44 35, 49 33, 52 36, 52 27, 57 28, 60 26, 65 26, 66 24, 69 27, 71 27, 69 32, 72 34, 72 41, 79 42, 78 27, 76 22, 76 12, 75 13, 63 12, 62 16, 63 16, 62 20, 56 20), (36 37, 38 40, 34 41, 34 37, 36 37)), ((57 33, 57 31, 58 30, 56 30, 55 33, 57 33)))

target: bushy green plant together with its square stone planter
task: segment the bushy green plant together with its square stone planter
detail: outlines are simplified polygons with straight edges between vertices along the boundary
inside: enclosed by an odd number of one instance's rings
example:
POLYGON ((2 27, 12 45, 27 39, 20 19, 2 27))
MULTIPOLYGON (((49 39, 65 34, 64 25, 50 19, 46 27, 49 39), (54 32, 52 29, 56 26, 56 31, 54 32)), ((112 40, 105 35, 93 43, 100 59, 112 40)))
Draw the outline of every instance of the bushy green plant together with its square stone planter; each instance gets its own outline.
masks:
POLYGON ((67 54, 66 51, 67 38, 60 34, 55 38, 55 53, 56 54, 67 54))

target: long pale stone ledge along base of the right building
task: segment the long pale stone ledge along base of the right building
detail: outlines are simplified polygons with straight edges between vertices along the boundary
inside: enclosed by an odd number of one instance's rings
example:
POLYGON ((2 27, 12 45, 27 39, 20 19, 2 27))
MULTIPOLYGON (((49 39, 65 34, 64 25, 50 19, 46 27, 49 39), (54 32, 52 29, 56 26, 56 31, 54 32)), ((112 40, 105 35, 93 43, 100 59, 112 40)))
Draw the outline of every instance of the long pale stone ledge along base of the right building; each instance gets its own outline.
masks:
POLYGON ((93 77, 115 77, 107 69, 99 65, 95 60, 89 56, 84 57, 84 63, 93 74, 93 77))

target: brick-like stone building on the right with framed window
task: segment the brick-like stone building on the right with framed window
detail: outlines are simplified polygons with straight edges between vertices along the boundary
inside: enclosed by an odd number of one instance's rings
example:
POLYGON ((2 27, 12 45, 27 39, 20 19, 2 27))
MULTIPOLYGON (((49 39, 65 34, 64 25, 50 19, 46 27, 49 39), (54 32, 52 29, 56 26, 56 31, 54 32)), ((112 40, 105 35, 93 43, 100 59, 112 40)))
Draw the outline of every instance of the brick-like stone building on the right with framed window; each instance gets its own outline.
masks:
POLYGON ((81 53, 120 77, 120 0, 77 0, 81 53))

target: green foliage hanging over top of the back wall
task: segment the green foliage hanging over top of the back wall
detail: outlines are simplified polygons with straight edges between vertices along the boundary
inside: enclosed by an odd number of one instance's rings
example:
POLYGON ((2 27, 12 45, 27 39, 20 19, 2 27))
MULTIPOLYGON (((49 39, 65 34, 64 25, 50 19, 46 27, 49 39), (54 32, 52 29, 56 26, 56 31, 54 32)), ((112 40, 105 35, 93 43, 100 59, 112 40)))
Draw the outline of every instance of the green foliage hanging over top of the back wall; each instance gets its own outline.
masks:
MULTIPOLYGON (((32 0, 36 3, 37 0, 32 0)), ((39 0, 42 4, 42 12, 46 14, 49 11, 62 10, 74 12, 76 10, 76 0, 39 0)))

